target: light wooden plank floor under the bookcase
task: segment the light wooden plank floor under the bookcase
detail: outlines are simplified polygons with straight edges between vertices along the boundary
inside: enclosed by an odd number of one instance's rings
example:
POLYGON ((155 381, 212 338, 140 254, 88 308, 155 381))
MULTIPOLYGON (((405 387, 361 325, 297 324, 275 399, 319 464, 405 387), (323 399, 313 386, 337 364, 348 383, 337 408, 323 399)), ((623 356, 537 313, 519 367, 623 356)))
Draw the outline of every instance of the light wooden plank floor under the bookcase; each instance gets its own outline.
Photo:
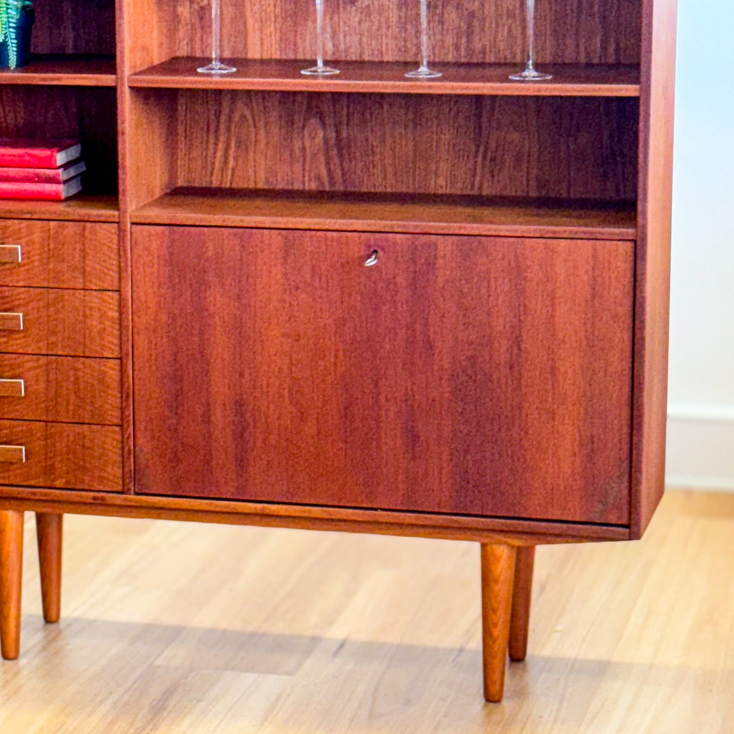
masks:
POLYGON ((539 548, 500 705, 476 545, 68 516, 44 625, 26 530, 2 734, 734 733, 734 495, 669 493, 641 542, 539 548))

